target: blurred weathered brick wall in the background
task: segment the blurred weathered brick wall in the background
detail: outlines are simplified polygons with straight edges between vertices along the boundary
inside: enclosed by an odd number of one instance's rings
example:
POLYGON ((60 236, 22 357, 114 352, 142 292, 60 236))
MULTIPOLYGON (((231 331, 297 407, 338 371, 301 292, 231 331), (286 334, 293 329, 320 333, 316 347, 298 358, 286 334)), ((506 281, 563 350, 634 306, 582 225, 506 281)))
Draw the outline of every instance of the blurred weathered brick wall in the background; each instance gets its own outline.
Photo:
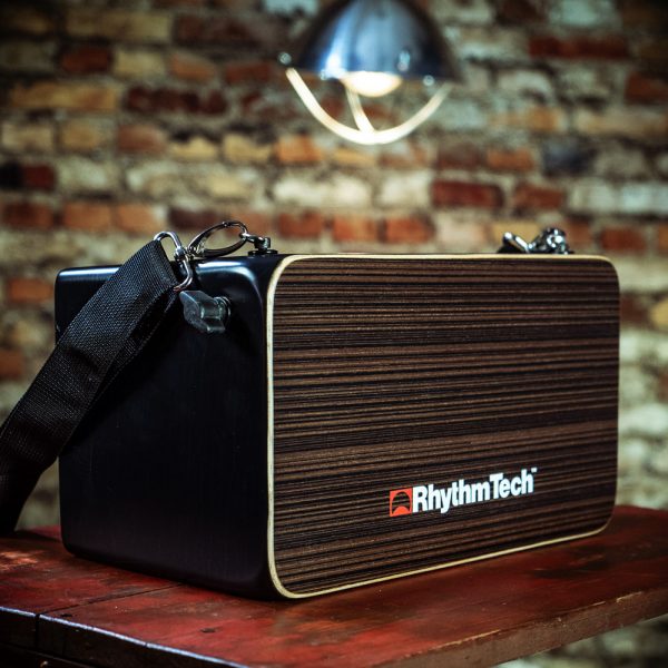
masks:
MULTIPOLYGON (((57 271, 120 262, 159 229, 234 216, 284 252, 478 252, 558 225, 621 278, 619 501, 668 507, 668 6, 423 4, 466 82, 409 139, 363 148, 276 65, 317 0, 4 3, 0 415, 51 346, 57 271)), ((373 102, 374 122, 414 95, 373 102)), ((53 520, 55 487, 26 522, 53 520)))

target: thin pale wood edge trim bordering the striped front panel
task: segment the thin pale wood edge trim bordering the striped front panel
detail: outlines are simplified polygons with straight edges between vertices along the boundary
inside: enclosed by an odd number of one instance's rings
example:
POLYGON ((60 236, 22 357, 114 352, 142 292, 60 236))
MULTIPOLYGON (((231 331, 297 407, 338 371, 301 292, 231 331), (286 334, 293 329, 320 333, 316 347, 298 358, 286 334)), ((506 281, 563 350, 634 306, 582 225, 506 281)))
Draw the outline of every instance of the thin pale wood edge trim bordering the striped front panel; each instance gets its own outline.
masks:
POLYGON ((375 584, 376 582, 385 582, 386 580, 395 580, 396 578, 404 578, 407 576, 416 576, 419 573, 425 573, 429 571, 439 570, 442 568, 452 568, 453 566, 461 566, 463 563, 471 563, 474 561, 481 561, 483 559, 491 559, 493 557, 502 557, 503 554, 512 554, 513 552, 520 552, 523 550, 532 550, 534 548, 542 548, 546 546, 552 546, 556 543, 564 542, 568 540, 577 540, 580 538, 588 538, 590 536, 596 536, 606 529, 606 527, 610 523, 610 518, 608 518, 607 522, 600 528, 595 529, 593 531, 589 531, 587 533, 576 533, 573 536, 566 536, 563 538, 556 538, 552 540, 541 541, 537 543, 531 543, 528 546, 521 546, 519 548, 511 548, 509 550, 501 550, 499 552, 489 552, 487 554, 480 554, 479 557, 473 557, 471 559, 461 559, 459 561, 451 561, 445 563, 440 563, 438 566, 429 566, 425 568, 421 568, 413 571, 403 571, 401 573, 395 573, 393 576, 385 576, 383 578, 375 578, 372 580, 363 580, 362 582, 354 582, 352 584, 344 584, 342 587, 332 587, 330 589, 322 589, 318 591, 310 591, 308 593, 297 593, 294 591, 289 591, 286 589, 281 582, 281 578, 278 577, 278 571, 276 569, 276 558, 274 553, 274 297, 276 295, 276 286, 278 285, 278 281, 283 275, 285 269, 294 264, 295 262, 299 262, 302 259, 313 261, 313 259, 336 259, 336 258, 351 258, 351 259, 456 259, 456 261, 468 261, 468 259, 559 259, 559 261, 581 261, 581 259, 596 259, 600 262, 605 262, 610 265, 615 271, 615 275, 617 277, 617 271, 615 269, 615 265, 610 262, 609 258, 603 257, 602 255, 531 255, 531 254, 499 254, 499 253, 487 253, 479 255, 453 255, 453 254, 401 254, 401 255, 390 255, 390 254, 371 254, 371 253, 338 253, 338 254, 328 254, 328 255, 288 255, 285 257, 274 269, 272 274, 272 279, 269 281, 269 287, 267 291, 267 313, 266 313, 266 333, 267 333, 267 558, 269 566, 269 576, 272 578, 272 582, 276 588, 276 591, 288 599, 302 599, 302 598, 311 598, 313 596, 321 596, 323 593, 334 593, 335 591, 343 591, 345 589, 352 589, 354 587, 363 587, 365 584, 375 584))

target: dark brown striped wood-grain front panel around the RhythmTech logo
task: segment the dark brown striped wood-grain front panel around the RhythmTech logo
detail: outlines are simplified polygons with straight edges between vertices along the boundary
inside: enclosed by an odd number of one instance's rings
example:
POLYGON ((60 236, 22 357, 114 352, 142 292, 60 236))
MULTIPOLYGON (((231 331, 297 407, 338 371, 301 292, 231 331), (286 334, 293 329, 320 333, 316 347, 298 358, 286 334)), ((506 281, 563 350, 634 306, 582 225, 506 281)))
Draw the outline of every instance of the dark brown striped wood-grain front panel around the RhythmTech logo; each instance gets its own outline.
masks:
POLYGON ((617 474, 619 289, 596 258, 299 258, 273 306, 274 557, 310 593, 596 531, 617 474), (533 493, 390 517, 391 490, 533 493))

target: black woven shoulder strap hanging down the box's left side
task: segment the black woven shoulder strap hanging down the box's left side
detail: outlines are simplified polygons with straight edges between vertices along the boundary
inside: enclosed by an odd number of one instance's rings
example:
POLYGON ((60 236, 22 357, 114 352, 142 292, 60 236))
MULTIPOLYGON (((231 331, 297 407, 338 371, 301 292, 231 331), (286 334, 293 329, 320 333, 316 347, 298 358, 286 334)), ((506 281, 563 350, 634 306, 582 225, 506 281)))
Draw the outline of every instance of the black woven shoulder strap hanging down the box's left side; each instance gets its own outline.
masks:
POLYGON ((126 262, 84 306, 0 428, 0 533, 96 399, 139 354, 176 299, 159 242, 126 262))

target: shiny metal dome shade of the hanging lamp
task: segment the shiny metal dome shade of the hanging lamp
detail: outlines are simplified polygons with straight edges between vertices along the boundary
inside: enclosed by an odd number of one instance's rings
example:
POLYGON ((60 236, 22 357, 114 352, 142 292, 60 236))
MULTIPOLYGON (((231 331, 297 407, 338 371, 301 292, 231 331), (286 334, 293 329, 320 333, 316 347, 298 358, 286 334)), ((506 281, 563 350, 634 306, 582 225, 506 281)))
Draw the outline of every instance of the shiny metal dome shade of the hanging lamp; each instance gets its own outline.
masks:
POLYGON ((325 79, 365 71, 460 80, 456 60, 439 29, 409 0, 334 2, 302 37, 291 66, 325 79))

